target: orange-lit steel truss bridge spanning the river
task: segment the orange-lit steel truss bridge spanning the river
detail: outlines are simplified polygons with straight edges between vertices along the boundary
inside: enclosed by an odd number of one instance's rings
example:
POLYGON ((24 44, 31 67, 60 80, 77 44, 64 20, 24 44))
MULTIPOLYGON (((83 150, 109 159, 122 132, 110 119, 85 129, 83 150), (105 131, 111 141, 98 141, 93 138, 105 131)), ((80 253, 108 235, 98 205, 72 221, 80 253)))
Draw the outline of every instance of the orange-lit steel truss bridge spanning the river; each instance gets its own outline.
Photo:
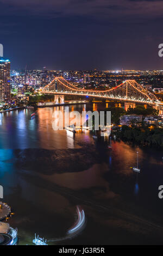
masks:
POLYGON ((146 103, 153 106, 163 105, 152 92, 143 88, 135 80, 126 80, 120 85, 106 90, 89 90, 78 88, 66 81, 64 77, 55 77, 47 86, 40 88, 40 92, 54 95, 83 95, 110 100, 146 103))

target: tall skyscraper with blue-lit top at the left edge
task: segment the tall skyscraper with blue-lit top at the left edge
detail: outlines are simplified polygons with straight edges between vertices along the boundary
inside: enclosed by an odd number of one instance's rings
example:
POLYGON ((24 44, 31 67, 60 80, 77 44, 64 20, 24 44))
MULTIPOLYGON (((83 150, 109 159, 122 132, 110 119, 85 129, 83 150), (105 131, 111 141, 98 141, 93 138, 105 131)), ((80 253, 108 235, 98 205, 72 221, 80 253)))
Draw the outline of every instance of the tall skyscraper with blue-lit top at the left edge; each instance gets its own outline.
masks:
POLYGON ((10 60, 0 57, 0 102, 10 100, 10 60))

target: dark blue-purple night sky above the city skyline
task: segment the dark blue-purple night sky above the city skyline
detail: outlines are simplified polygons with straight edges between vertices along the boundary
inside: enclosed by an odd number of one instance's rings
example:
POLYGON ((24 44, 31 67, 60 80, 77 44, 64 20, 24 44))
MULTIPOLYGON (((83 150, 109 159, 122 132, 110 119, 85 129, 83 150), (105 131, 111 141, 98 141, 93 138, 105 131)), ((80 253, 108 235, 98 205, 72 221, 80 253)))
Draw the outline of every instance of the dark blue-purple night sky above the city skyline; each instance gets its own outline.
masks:
POLYGON ((163 1, 0 0, 12 69, 163 69, 163 1))

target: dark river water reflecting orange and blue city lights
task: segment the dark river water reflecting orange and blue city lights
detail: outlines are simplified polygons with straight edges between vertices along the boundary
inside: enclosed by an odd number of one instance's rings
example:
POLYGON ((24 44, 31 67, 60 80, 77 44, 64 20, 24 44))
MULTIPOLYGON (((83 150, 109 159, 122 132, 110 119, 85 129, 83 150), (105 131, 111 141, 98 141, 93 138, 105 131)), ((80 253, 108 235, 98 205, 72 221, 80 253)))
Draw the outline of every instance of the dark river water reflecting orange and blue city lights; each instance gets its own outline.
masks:
POLYGON ((85 212, 85 229, 71 240, 49 244, 163 244, 162 150, 112 142, 110 151, 89 132, 54 131, 56 109, 37 109, 35 118, 29 109, 0 115, 0 184, 4 202, 15 212, 8 222, 18 228, 18 245, 32 244, 35 233, 47 240, 65 237, 77 205, 85 212), (140 174, 130 169, 136 150, 140 174))

